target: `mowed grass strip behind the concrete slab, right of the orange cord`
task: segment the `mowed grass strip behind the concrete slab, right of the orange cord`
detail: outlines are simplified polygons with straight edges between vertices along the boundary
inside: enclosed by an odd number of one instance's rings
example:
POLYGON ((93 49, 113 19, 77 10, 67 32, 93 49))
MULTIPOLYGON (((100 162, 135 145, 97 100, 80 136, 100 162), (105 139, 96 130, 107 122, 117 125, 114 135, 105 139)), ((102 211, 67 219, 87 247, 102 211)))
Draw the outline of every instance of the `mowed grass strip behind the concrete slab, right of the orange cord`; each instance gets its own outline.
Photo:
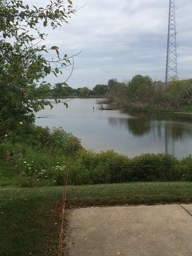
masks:
POLYGON ((168 204, 192 202, 192 182, 131 182, 68 187, 70 205, 168 204))

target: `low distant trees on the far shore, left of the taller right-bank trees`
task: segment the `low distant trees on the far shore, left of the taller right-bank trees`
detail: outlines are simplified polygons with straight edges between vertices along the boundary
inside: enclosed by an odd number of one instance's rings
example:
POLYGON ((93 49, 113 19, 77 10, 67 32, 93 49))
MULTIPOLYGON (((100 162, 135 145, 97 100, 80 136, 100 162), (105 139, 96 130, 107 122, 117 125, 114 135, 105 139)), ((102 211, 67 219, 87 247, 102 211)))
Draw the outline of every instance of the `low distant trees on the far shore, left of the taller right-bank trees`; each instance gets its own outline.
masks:
POLYGON ((97 84, 93 89, 88 87, 72 88, 65 83, 57 83, 54 88, 51 89, 51 84, 42 83, 38 88, 39 92, 42 92, 44 97, 48 98, 66 98, 66 97, 104 97, 109 92, 108 85, 97 84))

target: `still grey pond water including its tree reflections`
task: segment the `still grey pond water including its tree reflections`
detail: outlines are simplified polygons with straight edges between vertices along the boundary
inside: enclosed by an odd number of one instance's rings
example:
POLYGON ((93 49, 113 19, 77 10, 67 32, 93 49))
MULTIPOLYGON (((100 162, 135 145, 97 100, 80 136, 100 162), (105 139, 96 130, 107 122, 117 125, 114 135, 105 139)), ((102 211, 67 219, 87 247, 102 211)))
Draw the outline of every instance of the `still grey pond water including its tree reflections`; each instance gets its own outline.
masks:
POLYGON ((63 104, 47 106, 36 113, 36 125, 63 127, 80 138, 83 147, 96 152, 192 154, 192 115, 123 113, 98 107, 95 99, 74 99, 68 109, 63 104))

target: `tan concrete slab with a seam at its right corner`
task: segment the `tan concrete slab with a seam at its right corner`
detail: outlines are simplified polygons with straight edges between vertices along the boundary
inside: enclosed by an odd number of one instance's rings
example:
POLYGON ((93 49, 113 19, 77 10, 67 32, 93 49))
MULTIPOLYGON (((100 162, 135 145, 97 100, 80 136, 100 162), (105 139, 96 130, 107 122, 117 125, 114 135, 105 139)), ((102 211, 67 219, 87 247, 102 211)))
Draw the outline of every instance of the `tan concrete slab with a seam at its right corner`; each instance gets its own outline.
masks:
POLYGON ((75 209, 68 215, 69 255, 191 256, 190 214, 192 205, 75 209))

